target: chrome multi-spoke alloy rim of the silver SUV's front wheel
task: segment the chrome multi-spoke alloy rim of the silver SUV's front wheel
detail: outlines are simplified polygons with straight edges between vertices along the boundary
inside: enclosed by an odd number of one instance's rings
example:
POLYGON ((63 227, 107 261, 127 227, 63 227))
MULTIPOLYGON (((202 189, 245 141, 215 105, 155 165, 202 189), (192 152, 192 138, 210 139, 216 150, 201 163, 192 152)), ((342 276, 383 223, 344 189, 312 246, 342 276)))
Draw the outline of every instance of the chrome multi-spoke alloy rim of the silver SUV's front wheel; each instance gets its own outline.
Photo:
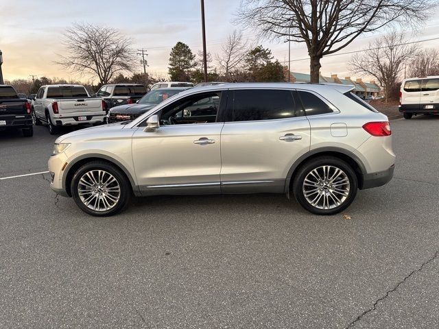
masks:
POLYGON ((121 186, 108 171, 91 170, 80 178, 78 195, 87 208, 95 211, 106 211, 119 202, 121 186))

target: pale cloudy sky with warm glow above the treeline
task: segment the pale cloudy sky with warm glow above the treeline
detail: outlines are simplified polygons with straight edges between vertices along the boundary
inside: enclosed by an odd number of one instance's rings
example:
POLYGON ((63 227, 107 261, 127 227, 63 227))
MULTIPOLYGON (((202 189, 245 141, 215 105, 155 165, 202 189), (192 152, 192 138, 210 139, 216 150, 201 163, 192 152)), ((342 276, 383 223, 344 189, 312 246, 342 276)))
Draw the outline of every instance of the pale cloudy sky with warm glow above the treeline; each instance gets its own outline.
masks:
MULTIPOLYGON (((228 34, 241 30, 235 21, 240 0, 204 0, 207 51, 218 53, 228 34)), ((169 52, 176 42, 185 42, 193 53, 202 50, 200 0, 0 0, 0 49, 3 51, 5 80, 37 77, 62 77, 66 80, 88 81, 55 64, 64 53, 62 32, 72 23, 92 23, 118 29, 133 41, 135 49, 146 49, 147 72, 167 77, 169 52)), ((439 18, 425 21, 416 31, 403 29, 412 40, 439 37, 439 18)), ((243 30, 255 45, 269 47, 276 59, 288 60, 288 44, 283 40, 257 40, 254 31, 243 30)), ((380 34, 357 38, 340 52, 357 51, 380 34)), ((418 43, 418 47, 439 49, 439 40, 418 43)), ((291 43, 291 71, 309 73, 307 50, 303 43, 291 43), (300 60, 305 58, 305 60, 300 60)), ((322 75, 359 77, 348 71, 351 54, 331 56, 322 60, 322 75)), ((140 63, 137 71, 143 71, 140 63)), ((371 77, 364 77, 370 80, 371 77)), ((95 78, 94 83, 97 83, 95 78)))

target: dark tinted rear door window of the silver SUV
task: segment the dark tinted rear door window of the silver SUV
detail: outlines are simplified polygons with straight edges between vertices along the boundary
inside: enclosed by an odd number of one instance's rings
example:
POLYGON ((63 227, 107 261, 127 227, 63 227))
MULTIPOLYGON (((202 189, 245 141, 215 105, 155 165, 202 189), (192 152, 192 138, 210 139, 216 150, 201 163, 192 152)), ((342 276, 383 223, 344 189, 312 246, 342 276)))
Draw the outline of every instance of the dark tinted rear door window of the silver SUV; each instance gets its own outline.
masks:
POLYGON ((272 120, 295 117, 290 90, 235 90, 233 121, 272 120))

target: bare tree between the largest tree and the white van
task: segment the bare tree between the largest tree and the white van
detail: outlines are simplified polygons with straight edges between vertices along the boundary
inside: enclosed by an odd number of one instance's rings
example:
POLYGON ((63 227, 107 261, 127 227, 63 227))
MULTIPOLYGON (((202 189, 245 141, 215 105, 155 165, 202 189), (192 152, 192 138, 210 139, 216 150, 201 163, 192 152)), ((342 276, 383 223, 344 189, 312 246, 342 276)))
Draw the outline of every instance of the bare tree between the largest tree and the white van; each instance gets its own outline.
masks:
POLYGON ((416 46, 407 44, 401 33, 390 32, 369 43, 367 49, 355 53, 348 68, 353 73, 375 77, 384 87, 385 99, 399 80, 404 64, 416 55, 416 46))

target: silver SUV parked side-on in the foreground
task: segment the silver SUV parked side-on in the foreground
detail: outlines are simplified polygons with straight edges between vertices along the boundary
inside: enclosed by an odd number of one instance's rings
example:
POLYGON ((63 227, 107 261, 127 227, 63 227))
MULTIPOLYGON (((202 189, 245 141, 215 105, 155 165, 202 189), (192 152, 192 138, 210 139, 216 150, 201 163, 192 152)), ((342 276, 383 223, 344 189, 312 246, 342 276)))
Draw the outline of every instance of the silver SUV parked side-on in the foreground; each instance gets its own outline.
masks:
POLYGON ((388 118, 323 84, 222 84, 185 90, 134 121, 60 136, 51 188, 95 216, 132 194, 283 193, 331 215, 358 189, 392 179, 388 118))

